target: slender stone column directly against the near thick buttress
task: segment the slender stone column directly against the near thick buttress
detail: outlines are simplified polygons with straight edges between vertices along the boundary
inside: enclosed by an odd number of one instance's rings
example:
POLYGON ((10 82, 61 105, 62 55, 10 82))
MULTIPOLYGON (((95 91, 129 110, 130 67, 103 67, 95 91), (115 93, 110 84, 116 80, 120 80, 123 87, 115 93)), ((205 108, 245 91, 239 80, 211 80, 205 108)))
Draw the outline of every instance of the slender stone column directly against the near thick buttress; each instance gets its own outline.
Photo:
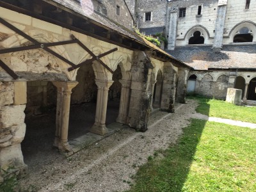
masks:
POLYGON ((116 122, 121 124, 126 124, 127 115, 128 115, 131 81, 121 79, 119 82, 122 84, 122 90, 121 90, 119 113, 118 113, 118 117, 116 118, 116 122))

